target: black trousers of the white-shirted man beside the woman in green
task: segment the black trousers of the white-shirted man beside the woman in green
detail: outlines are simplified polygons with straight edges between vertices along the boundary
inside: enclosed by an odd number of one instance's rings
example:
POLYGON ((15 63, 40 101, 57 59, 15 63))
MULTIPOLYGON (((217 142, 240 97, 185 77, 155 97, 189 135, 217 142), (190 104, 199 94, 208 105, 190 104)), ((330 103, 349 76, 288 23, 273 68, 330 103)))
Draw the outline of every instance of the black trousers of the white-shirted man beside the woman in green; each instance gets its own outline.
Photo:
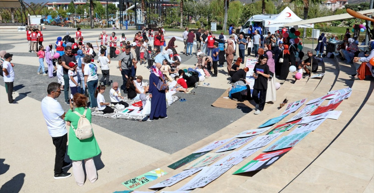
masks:
POLYGON ((62 173, 63 160, 66 153, 67 134, 61 137, 52 137, 53 145, 56 147, 56 156, 54 158, 54 174, 62 173))

